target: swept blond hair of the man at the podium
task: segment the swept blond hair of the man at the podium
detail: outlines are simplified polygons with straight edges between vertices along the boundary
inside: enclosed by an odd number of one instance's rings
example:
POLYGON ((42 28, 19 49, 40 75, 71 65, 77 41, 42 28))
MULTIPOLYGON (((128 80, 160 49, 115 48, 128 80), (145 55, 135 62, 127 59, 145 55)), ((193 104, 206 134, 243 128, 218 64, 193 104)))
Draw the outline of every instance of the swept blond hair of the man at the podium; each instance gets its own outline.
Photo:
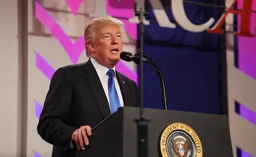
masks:
MULTIPOLYGON (((123 29, 123 22, 121 22, 118 19, 115 19, 114 17, 99 17, 95 18, 88 23, 87 27, 84 30, 84 39, 85 42, 91 42, 94 40, 97 32, 106 24, 113 24, 120 28, 120 30, 123 29)), ((86 44, 86 55, 87 57, 91 56, 91 52, 89 51, 87 44, 86 44)))

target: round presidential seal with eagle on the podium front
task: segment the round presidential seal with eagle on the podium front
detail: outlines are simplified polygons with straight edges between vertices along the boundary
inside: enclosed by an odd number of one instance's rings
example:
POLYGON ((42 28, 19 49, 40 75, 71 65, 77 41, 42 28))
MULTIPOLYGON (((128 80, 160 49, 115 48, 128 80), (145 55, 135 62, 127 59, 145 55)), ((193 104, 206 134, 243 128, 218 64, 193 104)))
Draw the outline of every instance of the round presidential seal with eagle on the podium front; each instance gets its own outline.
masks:
POLYGON ((173 123, 159 138, 159 154, 162 157, 202 157, 202 144, 191 127, 173 123))

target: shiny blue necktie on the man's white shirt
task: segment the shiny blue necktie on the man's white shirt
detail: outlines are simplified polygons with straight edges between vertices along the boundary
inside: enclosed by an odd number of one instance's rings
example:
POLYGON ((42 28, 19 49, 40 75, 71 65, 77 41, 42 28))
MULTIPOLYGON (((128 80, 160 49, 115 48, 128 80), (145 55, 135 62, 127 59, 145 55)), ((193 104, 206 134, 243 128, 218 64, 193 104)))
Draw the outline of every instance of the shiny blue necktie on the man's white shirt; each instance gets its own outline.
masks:
POLYGON ((111 113, 115 112, 121 105, 118 97, 118 92, 115 88, 115 72, 112 69, 109 69, 106 73, 108 78, 108 95, 109 95, 109 104, 111 113))

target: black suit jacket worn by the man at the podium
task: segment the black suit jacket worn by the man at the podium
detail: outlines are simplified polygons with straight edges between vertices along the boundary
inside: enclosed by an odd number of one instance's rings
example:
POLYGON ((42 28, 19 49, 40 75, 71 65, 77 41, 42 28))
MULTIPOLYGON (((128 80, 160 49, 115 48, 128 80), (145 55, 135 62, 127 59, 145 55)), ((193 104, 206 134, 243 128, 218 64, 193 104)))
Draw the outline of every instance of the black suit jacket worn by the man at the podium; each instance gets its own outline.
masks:
MULTIPOLYGON (((125 106, 138 106, 133 80, 116 72, 125 106)), ((72 134, 80 126, 93 128, 111 115, 108 100, 90 59, 87 63, 56 70, 37 126, 38 134, 54 145, 52 156, 73 156, 72 134)), ((74 147, 76 145, 74 144, 74 147)))

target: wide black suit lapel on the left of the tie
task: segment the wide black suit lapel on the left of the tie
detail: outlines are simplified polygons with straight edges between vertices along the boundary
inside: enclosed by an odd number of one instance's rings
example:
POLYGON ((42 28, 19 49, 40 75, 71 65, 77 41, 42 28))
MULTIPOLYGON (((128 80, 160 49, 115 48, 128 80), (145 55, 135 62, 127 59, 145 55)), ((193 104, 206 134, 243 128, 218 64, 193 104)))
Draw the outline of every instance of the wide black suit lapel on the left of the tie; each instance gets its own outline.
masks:
POLYGON ((94 98, 97 102, 99 110, 101 111, 102 117, 103 119, 105 119, 107 116, 111 115, 108 105, 108 99, 106 98, 106 94, 101 85, 101 80, 99 80, 98 74, 90 59, 86 62, 84 66, 84 71, 84 76, 86 77, 86 80, 90 85, 91 91, 94 94, 94 98))

